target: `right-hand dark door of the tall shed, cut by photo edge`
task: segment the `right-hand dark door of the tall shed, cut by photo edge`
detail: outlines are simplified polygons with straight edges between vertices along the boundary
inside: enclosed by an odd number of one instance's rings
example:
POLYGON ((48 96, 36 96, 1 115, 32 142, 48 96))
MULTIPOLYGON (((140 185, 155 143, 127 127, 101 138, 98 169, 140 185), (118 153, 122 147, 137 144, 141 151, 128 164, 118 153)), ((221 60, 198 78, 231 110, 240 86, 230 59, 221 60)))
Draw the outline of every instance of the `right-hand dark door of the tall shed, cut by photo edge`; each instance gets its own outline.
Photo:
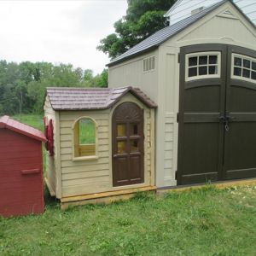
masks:
POLYGON ((224 179, 256 177, 256 52, 228 47, 224 179))

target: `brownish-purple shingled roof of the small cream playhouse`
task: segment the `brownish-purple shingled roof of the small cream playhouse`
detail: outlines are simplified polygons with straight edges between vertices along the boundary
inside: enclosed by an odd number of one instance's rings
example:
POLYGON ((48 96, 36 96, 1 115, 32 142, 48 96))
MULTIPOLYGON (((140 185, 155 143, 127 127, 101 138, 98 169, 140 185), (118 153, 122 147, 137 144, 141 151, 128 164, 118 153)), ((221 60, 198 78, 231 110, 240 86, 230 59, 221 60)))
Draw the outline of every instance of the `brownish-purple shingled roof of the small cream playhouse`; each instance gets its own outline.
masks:
POLYGON ((131 86, 115 89, 48 87, 46 92, 49 102, 55 110, 107 109, 128 92, 136 96, 148 108, 157 107, 142 90, 131 86))

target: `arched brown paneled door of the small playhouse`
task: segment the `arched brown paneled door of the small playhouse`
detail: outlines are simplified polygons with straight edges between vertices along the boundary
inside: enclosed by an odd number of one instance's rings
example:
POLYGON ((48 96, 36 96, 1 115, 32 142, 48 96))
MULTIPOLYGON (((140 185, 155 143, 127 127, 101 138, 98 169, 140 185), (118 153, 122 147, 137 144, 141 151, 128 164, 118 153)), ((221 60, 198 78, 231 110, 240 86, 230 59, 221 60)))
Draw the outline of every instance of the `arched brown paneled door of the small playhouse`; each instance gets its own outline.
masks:
POLYGON ((143 109, 120 104, 113 112, 113 186, 144 182, 143 109))

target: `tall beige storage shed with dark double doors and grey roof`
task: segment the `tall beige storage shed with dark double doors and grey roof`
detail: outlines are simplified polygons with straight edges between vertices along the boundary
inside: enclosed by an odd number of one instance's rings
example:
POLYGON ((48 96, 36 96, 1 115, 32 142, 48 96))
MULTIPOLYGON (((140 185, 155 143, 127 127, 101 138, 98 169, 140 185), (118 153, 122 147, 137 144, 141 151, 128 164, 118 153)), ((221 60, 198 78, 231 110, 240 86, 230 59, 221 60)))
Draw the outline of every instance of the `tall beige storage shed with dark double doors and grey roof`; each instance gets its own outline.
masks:
POLYGON ((110 88, 157 103, 158 188, 256 177, 256 27, 235 3, 195 10, 108 67, 110 88))

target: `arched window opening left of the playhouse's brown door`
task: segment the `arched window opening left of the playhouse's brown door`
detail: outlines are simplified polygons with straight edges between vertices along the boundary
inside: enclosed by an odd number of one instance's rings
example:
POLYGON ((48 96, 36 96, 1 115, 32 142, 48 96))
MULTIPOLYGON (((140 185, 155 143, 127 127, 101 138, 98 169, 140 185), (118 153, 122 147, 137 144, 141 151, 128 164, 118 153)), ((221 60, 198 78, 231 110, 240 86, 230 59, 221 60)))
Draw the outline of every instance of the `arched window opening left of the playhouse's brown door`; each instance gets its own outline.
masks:
POLYGON ((93 119, 79 119, 74 125, 74 157, 96 155, 96 123, 93 119))

